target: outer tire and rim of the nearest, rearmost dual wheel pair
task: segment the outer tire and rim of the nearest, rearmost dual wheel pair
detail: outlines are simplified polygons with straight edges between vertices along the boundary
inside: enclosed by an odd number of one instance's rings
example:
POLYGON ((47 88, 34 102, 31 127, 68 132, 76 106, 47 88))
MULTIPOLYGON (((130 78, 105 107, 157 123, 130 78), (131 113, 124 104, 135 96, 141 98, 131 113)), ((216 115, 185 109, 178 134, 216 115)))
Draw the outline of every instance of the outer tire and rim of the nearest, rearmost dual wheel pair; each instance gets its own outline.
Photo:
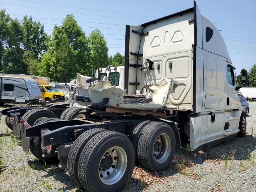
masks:
POLYGON ((135 163, 132 142, 124 134, 104 131, 94 135, 84 146, 78 176, 88 192, 118 192, 131 178, 135 163))

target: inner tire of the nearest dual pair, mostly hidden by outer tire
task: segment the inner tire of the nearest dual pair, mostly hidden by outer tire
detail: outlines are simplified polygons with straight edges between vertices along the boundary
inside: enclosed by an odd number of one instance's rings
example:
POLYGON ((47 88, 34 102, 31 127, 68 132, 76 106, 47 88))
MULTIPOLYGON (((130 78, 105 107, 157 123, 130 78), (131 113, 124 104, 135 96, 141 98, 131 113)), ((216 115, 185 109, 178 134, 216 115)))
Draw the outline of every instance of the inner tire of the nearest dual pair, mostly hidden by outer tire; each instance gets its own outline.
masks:
POLYGON ((68 153, 68 172, 70 177, 78 184, 79 186, 82 186, 80 184, 79 178, 78 178, 78 161, 80 158, 80 154, 84 148, 84 146, 87 144, 87 142, 96 134, 106 131, 105 129, 90 129, 86 132, 83 132, 73 143, 72 147, 70 148, 70 151, 68 153))

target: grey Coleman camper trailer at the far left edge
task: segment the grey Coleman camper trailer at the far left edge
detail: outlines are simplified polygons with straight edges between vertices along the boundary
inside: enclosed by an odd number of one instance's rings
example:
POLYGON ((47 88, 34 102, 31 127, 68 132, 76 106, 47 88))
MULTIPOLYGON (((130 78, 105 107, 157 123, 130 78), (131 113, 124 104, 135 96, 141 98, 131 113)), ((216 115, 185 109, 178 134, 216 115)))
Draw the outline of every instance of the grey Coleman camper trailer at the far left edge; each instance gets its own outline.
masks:
POLYGON ((38 82, 33 79, 0 76, 0 104, 28 103, 42 98, 38 82))

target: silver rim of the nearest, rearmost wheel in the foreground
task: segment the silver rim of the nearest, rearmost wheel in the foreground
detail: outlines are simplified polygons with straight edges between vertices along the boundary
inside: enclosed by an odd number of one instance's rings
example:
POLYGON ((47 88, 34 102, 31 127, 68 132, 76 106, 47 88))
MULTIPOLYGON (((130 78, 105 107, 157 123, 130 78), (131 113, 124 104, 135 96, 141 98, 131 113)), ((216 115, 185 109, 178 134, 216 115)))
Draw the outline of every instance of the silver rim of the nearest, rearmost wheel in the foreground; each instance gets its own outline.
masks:
POLYGON ((127 155, 123 148, 112 147, 102 156, 98 168, 100 180, 106 185, 118 182, 127 167, 127 155))

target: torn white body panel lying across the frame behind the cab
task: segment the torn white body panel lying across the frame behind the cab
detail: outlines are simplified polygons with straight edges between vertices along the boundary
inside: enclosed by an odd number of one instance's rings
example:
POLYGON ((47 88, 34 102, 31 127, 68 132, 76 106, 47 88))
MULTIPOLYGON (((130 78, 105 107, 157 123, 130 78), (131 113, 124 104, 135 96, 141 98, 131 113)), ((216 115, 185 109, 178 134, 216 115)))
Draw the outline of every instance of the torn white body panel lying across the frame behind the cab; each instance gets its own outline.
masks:
POLYGON ((112 86, 110 81, 100 81, 90 85, 88 88, 77 86, 78 94, 90 98, 91 103, 81 103, 83 105, 99 103, 103 98, 109 98, 105 106, 138 109, 138 110, 157 110, 166 106, 170 93, 178 86, 179 83, 171 80, 165 85, 146 86, 146 92, 143 95, 126 95, 126 90, 112 86))

